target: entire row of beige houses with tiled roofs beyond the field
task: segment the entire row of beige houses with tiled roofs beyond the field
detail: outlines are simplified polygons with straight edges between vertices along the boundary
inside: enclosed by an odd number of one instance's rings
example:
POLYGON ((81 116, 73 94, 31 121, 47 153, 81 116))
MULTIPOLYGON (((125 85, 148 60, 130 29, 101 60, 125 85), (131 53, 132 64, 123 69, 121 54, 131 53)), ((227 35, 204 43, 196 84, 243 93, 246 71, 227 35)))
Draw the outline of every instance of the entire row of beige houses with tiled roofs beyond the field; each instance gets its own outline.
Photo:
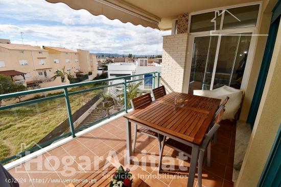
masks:
MULTIPOLYGON (((67 48, 47 47, 43 49, 31 45, 0 43, 0 73, 15 70, 24 73, 24 76, 16 72, 9 72, 13 81, 18 84, 30 86, 35 83, 52 82, 52 76, 56 70, 65 67, 66 72, 88 73, 93 72, 93 77, 97 74, 96 56, 89 55, 88 50, 74 51, 67 48), (82 68, 82 69, 80 69, 82 68), (14 75, 17 74, 17 75, 14 75)), ((57 86, 54 83, 53 86, 57 86)))

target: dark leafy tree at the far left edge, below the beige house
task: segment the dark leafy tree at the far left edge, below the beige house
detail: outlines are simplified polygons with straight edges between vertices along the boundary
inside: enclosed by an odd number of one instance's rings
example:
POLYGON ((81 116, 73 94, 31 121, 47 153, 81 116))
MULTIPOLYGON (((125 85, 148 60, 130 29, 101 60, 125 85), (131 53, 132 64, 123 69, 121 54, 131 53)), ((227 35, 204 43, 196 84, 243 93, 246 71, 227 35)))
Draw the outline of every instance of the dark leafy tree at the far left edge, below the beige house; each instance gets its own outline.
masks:
MULTIPOLYGON (((0 74, 0 95, 7 94, 7 93, 13 93, 13 92, 20 92, 20 91, 24 91, 24 90, 26 90, 26 87, 24 85, 16 85, 12 81, 11 77, 0 74)), ((18 96, 15 98, 1 99, 0 106, 3 101, 14 100, 16 98, 18 98, 20 101, 20 99, 22 97, 25 97, 25 96, 23 95, 23 96, 18 96)))

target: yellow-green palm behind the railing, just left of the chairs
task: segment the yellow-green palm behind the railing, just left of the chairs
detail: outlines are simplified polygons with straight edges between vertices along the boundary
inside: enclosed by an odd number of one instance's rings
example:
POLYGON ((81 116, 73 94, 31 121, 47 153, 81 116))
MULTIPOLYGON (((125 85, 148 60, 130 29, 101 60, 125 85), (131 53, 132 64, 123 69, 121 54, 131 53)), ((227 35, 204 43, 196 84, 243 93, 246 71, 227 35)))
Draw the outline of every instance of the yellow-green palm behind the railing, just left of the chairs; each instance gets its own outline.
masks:
MULTIPOLYGON (((136 98, 137 96, 140 95, 138 93, 139 92, 138 87, 140 85, 142 85, 142 82, 128 84, 128 86, 127 86, 127 108, 129 108, 131 106, 130 100, 133 98, 136 98)), ((125 103, 124 94, 120 94, 118 96, 121 98, 121 104, 124 104, 125 103)))

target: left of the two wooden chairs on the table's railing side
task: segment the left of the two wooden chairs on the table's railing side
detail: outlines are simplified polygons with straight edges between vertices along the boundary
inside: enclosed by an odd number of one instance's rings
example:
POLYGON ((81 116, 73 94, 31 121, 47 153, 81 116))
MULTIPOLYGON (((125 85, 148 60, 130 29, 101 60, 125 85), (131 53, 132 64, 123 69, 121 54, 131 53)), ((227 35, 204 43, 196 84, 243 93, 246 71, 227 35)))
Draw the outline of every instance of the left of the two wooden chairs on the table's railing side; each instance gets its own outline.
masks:
MULTIPOLYGON (((149 105, 151 102, 152 102, 152 98, 151 98, 150 93, 147 93, 145 95, 136 97, 134 99, 131 99, 131 105, 132 105, 133 110, 144 108, 146 105, 149 105)), ((147 135, 148 137, 158 139, 158 141, 159 141, 159 152, 160 152, 160 150, 161 150, 161 140, 162 140, 161 136, 158 133, 156 133, 152 130, 149 130, 145 127, 137 128, 137 124, 135 124, 135 126, 134 126, 134 139, 133 139, 133 146, 132 146, 133 152, 135 151, 135 143, 136 143, 137 132, 143 133, 144 135, 147 135)))

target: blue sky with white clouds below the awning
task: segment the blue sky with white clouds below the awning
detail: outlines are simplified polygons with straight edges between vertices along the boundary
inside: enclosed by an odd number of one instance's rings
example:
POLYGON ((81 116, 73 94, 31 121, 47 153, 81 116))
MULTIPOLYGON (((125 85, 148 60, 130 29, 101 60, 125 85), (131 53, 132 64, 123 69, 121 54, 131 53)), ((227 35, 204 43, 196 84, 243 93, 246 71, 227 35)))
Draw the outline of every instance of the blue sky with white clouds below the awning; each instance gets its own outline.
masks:
POLYGON ((56 46, 133 55, 162 52, 159 31, 142 25, 94 16, 86 10, 73 10, 63 3, 44 0, 0 0, 0 38, 11 43, 56 46))

